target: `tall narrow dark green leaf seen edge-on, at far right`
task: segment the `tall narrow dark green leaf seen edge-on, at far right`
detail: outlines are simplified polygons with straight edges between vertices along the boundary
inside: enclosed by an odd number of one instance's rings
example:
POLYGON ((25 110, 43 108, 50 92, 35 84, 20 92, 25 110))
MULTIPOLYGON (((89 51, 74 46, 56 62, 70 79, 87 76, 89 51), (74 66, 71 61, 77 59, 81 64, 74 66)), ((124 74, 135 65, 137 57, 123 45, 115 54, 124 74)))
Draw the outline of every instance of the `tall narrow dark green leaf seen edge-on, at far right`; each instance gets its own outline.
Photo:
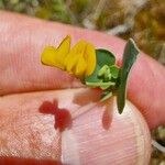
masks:
POLYGON ((134 41, 130 38, 125 45, 123 59, 122 59, 122 67, 120 69, 120 85, 118 88, 118 95, 117 95, 117 105, 119 113, 122 113, 124 105, 125 105, 125 98, 127 98, 127 82, 129 73, 132 68, 132 65, 136 61, 136 56, 139 54, 139 48, 136 47, 134 41))

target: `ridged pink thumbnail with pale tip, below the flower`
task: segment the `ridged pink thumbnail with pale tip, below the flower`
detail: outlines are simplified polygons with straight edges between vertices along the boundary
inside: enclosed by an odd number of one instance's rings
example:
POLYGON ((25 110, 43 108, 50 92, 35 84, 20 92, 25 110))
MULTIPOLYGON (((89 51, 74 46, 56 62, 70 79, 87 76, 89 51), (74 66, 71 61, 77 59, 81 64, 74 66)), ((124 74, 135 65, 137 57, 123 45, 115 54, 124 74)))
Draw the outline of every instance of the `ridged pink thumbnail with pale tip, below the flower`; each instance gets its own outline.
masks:
POLYGON ((116 107, 109 129, 102 125, 103 111, 105 107, 92 108, 63 134, 64 163, 148 164, 150 131, 138 110, 128 103, 124 113, 119 114, 116 107))

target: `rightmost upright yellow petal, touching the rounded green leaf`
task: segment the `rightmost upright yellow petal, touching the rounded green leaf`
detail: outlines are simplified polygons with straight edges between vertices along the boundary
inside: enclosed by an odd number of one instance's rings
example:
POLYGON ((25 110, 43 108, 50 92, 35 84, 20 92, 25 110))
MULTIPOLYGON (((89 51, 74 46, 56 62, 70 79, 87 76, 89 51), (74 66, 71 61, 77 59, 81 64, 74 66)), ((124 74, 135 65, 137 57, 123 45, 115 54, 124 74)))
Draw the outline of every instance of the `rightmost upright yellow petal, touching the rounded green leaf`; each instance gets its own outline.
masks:
POLYGON ((95 70, 97 63, 95 46, 88 43, 84 55, 87 63, 86 76, 89 76, 95 70))

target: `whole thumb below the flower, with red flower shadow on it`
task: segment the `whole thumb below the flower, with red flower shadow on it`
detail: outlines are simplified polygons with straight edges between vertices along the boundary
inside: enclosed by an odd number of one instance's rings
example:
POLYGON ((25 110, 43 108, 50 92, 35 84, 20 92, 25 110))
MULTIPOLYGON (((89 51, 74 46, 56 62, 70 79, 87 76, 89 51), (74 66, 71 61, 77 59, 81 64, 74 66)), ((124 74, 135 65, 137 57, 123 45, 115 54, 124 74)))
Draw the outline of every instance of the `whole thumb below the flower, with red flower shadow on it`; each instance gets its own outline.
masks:
POLYGON ((98 92, 1 97, 0 164, 148 164, 150 132, 142 116, 129 102, 122 116, 113 99, 98 105, 98 92))

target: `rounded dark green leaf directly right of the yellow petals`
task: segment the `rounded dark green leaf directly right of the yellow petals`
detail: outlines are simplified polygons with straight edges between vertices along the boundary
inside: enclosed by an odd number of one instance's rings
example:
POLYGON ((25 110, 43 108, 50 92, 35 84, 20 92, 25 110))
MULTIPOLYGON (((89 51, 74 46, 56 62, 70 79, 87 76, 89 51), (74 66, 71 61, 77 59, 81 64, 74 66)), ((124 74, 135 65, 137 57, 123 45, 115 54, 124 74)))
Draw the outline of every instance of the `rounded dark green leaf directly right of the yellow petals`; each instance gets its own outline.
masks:
POLYGON ((110 66, 116 63, 116 56, 107 50, 103 48, 96 50, 96 56, 97 56, 97 64, 100 66, 100 68, 103 65, 110 66))

